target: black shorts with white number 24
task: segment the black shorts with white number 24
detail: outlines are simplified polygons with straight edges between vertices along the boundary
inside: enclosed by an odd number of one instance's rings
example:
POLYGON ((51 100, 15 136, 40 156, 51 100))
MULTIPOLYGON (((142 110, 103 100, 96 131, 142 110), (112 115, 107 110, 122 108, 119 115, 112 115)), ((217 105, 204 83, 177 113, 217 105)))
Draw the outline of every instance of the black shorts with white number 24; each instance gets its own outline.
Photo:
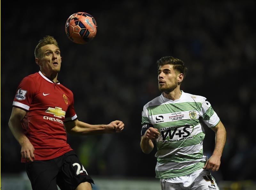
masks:
POLYGON ((57 190, 57 185, 61 190, 74 190, 85 181, 94 184, 73 150, 52 160, 35 160, 25 165, 36 190, 57 190))

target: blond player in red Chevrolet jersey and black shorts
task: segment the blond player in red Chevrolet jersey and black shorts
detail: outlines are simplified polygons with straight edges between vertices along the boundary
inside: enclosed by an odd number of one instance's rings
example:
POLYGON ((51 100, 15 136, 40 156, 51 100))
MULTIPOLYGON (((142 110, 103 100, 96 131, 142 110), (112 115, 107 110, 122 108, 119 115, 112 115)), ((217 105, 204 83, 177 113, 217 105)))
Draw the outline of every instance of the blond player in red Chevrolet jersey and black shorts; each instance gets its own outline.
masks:
POLYGON ((21 146, 21 162, 36 190, 92 189, 92 178, 67 143, 70 134, 120 133, 124 123, 90 125, 79 121, 71 90, 58 81, 61 57, 57 41, 45 36, 35 49, 40 71, 17 88, 9 127, 21 146))

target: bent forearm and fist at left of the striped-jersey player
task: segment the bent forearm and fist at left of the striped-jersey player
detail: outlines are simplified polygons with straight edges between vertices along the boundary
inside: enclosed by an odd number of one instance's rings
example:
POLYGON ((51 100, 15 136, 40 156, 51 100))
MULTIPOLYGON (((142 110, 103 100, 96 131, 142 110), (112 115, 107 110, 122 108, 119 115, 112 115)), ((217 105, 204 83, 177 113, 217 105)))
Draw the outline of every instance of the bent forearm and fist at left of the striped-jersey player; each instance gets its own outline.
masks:
POLYGON ((154 127, 149 127, 145 134, 140 139, 140 148, 145 154, 149 154, 153 148, 153 141, 159 136, 159 132, 154 127))

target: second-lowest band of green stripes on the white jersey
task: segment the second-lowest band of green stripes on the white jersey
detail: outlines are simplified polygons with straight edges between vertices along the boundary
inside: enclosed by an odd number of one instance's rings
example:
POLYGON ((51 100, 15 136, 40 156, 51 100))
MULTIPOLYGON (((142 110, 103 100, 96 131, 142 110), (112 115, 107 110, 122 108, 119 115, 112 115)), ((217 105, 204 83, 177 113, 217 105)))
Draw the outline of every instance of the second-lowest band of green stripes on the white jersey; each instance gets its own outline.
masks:
POLYGON ((170 163, 170 162, 184 162, 184 161, 194 161, 197 158, 203 157, 203 149, 198 153, 188 154, 188 155, 168 155, 164 158, 157 158, 158 163, 170 163))

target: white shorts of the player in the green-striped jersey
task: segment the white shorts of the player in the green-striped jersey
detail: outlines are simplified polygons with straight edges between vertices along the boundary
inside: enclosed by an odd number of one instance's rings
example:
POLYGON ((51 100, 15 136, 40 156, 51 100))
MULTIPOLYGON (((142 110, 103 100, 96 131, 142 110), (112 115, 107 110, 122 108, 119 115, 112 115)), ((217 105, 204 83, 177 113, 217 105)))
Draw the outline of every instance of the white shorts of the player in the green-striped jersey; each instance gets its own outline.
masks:
POLYGON ((160 179, 162 190, 220 190, 209 170, 200 169, 186 176, 160 179))

